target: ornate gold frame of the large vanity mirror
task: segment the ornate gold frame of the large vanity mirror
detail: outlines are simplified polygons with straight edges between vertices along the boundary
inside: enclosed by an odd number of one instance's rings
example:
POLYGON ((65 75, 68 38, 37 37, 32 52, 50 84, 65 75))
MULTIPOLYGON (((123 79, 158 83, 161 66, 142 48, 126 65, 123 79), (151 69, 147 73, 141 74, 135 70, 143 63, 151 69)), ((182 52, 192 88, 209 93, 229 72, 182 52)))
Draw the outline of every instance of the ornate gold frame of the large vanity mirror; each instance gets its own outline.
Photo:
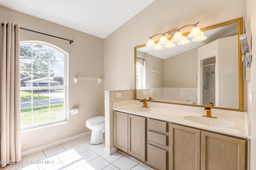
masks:
MULTIPOLYGON (((214 28, 218 28, 218 27, 222 27, 225 25, 230 25, 232 23, 238 23, 238 37, 237 37, 237 41, 238 41, 238 98, 239 98, 239 106, 238 109, 234 109, 234 108, 226 108, 226 107, 213 107, 214 109, 224 109, 224 110, 233 110, 233 111, 244 111, 244 101, 243 101, 243 62, 242 62, 242 49, 240 46, 240 41, 239 41, 239 35, 241 35, 243 33, 243 25, 242 25, 242 18, 237 18, 234 20, 230 20, 230 21, 226 21, 223 23, 219 23, 216 25, 212 25, 209 27, 205 27, 202 28, 201 31, 207 31, 210 29, 214 29, 214 28)), ((187 36, 189 34, 188 33, 184 33, 184 36, 187 36)), ((169 37, 168 39, 170 40, 172 37, 169 37)), ((158 41, 155 41, 155 43, 157 43, 158 41)), ((146 45, 139 45, 134 47, 134 100, 140 100, 136 98, 136 94, 137 94, 137 89, 136 89, 136 50, 138 48, 141 47, 146 47, 146 45)), ((172 103, 172 102, 161 102, 161 101, 148 101, 148 102, 158 102, 158 103, 166 103, 166 104, 177 104, 177 105, 185 105, 185 106, 195 106, 195 107, 205 107, 202 105, 192 105, 192 104, 180 104, 180 103, 172 103)))

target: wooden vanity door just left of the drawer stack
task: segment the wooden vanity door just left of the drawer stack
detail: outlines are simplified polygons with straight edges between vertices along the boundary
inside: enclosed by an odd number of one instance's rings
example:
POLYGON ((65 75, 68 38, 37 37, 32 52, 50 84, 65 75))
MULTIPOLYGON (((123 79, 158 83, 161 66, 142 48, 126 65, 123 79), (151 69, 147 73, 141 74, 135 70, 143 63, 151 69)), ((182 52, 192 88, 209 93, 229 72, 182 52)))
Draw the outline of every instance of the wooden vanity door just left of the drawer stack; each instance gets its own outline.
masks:
POLYGON ((143 161, 146 160, 145 131, 145 117, 128 115, 128 153, 143 161))

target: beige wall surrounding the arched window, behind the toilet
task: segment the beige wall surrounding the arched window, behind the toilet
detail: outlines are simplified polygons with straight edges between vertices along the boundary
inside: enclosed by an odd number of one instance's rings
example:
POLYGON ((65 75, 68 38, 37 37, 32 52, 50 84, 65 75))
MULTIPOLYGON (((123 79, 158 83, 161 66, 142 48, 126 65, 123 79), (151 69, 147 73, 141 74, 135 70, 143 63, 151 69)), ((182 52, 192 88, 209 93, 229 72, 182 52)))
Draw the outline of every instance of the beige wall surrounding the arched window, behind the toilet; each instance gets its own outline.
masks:
MULTIPOLYGON (((20 27, 47 33, 50 35, 74 40, 69 41, 20 30, 20 40, 38 40, 54 44, 69 53, 69 109, 78 108, 79 113, 69 115, 69 123, 54 127, 46 127, 22 133, 22 151, 71 137, 89 129, 86 119, 104 115, 104 79, 103 83, 78 82, 74 84, 74 76, 104 76, 103 39, 41 20, 0 6, 0 22, 4 20, 19 23, 20 27)), ((0 32, 3 27, 0 26, 0 32)), ((2 54, 2 34, 0 34, 0 53, 2 54)))

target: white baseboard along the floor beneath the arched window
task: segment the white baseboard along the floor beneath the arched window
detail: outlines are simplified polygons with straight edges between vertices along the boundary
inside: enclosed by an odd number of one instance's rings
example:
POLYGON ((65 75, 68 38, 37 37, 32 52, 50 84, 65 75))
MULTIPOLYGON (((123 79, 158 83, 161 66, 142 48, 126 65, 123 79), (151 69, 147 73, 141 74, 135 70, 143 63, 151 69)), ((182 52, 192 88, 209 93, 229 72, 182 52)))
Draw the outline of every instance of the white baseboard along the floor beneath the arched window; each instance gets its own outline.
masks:
POLYGON ((74 141, 76 139, 84 137, 85 135, 90 135, 91 133, 92 133, 92 131, 87 131, 87 132, 84 132, 84 133, 80 133, 78 135, 74 135, 72 137, 67 137, 67 138, 64 138, 64 139, 60 139, 58 141, 46 144, 46 145, 41 146, 41 147, 37 147, 37 148, 34 148, 34 149, 26 150, 26 151, 21 152, 21 156, 24 157, 24 156, 33 154, 35 152, 39 152, 39 151, 42 151, 42 150, 46 150, 48 148, 52 148, 52 147, 55 147, 55 146, 58 146, 58 145, 62 145, 64 143, 68 143, 70 141, 74 141))

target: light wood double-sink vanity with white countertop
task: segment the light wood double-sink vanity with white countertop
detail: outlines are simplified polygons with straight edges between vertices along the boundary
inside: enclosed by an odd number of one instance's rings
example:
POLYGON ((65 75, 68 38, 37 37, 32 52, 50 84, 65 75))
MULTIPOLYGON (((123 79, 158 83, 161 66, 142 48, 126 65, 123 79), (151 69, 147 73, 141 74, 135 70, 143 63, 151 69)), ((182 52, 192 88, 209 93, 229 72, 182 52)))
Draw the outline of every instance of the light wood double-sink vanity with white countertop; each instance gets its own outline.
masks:
POLYGON ((201 113, 144 108, 133 101, 114 108, 114 144, 154 169, 246 170, 248 125, 242 116, 246 113, 228 118, 215 112, 217 123, 202 124, 185 119, 201 119, 201 113))

